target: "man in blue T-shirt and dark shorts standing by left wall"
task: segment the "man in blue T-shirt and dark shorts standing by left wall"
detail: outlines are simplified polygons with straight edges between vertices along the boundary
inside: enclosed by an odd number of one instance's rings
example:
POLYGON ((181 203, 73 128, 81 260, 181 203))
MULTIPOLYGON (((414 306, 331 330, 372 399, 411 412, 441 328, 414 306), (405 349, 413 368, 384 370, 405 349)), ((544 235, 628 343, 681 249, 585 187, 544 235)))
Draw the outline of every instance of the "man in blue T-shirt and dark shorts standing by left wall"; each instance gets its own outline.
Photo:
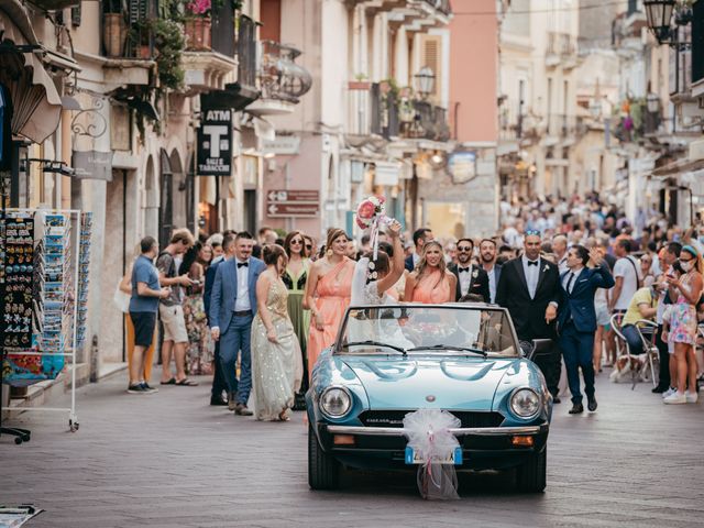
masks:
POLYGON ((144 237, 140 242, 142 254, 132 266, 132 297, 130 298, 130 320, 134 327, 134 350, 130 361, 130 394, 150 394, 157 392, 150 387, 144 375, 144 352, 154 342, 156 311, 160 299, 170 295, 170 288, 162 288, 158 273, 153 261, 158 254, 158 244, 153 237, 144 237))

